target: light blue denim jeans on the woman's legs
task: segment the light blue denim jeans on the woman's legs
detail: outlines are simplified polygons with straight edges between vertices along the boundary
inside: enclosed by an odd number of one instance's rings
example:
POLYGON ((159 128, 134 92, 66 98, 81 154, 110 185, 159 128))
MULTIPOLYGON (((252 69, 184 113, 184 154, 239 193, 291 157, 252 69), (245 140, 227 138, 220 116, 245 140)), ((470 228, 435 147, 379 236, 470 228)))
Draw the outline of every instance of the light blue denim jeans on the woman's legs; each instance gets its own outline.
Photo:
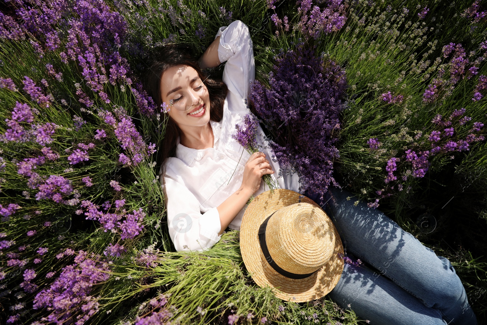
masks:
MULTIPOLYGON (((320 204, 320 195, 307 191, 303 195, 320 204)), ((380 210, 364 202, 354 206, 356 200, 351 192, 330 187, 323 210, 337 228, 347 255, 375 270, 345 263, 328 297, 372 325, 477 324, 450 261, 380 210)))

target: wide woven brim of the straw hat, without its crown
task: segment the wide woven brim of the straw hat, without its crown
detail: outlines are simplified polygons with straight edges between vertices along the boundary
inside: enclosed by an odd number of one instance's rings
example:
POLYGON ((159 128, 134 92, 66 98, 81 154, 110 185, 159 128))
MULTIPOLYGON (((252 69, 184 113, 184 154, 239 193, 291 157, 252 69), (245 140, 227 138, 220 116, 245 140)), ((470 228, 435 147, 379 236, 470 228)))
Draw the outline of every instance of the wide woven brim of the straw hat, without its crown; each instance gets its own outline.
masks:
MULTIPOLYGON (((335 249, 330 259, 317 272, 304 279, 290 279, 278 273, 267 263, 259 242, 259 227, 272 212, 299 202, 300 193, 275 189, 274 193, 265 191, 256 196, 248 205, 240 226, 240 250, 250 276, 261 287, 274 287, 276 297, 296 303, 319 299, 329 293, 338 283, 343 271, 344 261, 338 257, 343 254, 343 246, 336 227, 335 249)), ((319 205, 306 196, 301 202, 319 205)))

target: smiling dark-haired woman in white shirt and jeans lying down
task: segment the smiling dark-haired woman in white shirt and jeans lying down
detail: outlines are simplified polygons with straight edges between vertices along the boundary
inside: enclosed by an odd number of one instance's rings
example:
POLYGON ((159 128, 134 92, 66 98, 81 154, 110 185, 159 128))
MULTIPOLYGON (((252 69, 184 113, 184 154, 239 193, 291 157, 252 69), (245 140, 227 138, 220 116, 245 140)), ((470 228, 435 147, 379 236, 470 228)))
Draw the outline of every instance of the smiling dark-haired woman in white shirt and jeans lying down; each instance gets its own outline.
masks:
MULTIPOLYGON (((251 195, 270 174, 279 188, 300 192, 299 177, 273 161, 265 149, 249 155, 231 135, 249 113, 247 97, 255 78, 248 27, 239 20, 221 27, 196 61, 187 49, 168 46, 148 78, 150 95, 167 111, 160 144, 160 180, 167 200, 169 234, 176 250, 208 249, 227 227, 239 229, 251 195), (225 62, 223 82, 202 71, 225 62), (169 106, 167 106, 169 105, 169 106), (168 111, 169 110, 169 111, 168 111)), ((319 195, 302 193, 318 202, 319 195)), ((476 324, 465 289, 450 261, 436 256, 411 233, 350 192, 328 191, 323 209, 342 243, 366 266, 345 264, 329 293, 343 308, 370 324, 476 324), (374 270, 375 268, 375 270, 374 270)))

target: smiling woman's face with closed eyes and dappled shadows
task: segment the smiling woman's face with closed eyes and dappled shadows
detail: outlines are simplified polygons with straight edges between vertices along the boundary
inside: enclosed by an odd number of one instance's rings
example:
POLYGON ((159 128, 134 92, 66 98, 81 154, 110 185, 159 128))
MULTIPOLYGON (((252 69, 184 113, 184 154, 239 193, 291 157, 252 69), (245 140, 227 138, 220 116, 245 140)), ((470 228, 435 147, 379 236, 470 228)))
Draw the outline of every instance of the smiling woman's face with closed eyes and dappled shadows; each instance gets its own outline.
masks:
POLYGON ((205 126, 210 120, 208 89, 196 70, 178 65, 166 70, 161 77, 162 101, 168 106, 169 116, 181 127, 205 126), (201 110, 202 109, 202 110, 201 110), (197 114, 190 114, 194 112, 197 114))

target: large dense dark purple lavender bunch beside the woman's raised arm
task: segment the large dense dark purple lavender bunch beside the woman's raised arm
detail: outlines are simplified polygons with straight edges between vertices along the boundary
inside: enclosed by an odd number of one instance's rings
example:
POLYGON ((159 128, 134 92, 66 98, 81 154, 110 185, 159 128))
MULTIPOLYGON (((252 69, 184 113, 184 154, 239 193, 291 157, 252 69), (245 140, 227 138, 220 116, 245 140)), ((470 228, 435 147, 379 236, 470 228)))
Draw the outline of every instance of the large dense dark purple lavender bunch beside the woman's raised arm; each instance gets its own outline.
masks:
POLYGON ((297 172, 303 191, 324 194, 330 183, 338 186, 332 172, 339 157, 335 143, 345 71, 332 60, 316 57, 302 43, 276 60, 269 73, 270 89, 256 80, 249 97, 271 135, 273 161, 297 172))

